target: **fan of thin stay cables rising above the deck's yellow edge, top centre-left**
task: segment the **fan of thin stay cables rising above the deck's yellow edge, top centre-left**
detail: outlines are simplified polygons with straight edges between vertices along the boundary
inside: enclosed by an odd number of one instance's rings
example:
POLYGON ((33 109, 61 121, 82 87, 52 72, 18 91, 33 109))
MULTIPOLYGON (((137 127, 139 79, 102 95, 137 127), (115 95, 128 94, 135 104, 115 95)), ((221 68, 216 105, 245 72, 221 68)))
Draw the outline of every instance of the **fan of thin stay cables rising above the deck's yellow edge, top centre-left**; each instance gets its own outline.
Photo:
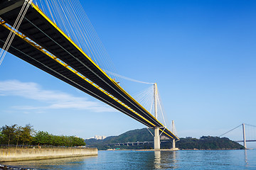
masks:
MULTIPOLYGON (((69 35, 100 67, 116 72, 107 50, 97 35, 80 1, 36 0, 46 14, 69 35), (78 36, 79 35, 79 36, 78 36)), ((114 77, 117 79, 117 77, 114 77)), ((120 80, 118 80, 120 81, 120 80)))

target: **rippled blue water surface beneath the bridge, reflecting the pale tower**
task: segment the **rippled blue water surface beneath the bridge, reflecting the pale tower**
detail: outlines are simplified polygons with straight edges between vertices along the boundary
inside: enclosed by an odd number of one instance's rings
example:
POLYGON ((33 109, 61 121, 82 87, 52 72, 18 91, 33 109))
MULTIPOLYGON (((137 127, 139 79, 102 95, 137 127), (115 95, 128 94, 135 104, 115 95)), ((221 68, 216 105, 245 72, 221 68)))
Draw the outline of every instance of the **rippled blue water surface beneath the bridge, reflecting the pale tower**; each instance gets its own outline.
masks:
POLYGON ((99 151, 97 157, 6 163, 31 169, 256 169, 256 150, 99 151))

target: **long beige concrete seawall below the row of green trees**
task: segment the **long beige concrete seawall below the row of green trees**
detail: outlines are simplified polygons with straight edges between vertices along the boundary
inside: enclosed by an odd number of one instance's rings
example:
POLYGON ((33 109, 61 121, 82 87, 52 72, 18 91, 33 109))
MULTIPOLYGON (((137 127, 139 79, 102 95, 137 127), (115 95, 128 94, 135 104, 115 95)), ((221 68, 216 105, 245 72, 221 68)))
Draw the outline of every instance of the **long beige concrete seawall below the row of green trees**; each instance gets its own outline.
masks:
POLYGON ((97 148, 83 149, 0 149, 0 162, 14 162, 65 157, 97 156, 97 148))

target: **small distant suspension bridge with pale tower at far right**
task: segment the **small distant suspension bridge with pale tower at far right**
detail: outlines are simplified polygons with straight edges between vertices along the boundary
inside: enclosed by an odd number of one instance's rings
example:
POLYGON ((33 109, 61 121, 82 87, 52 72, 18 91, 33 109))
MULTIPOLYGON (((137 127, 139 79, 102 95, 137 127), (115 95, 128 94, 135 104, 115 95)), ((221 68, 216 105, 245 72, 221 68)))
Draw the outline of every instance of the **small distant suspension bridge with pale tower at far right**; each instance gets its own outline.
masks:
POLYGON ((222 135, 220 135, 220 137, 227 135, 230 132, 234 132, 235 130, 237 130, 241 127, 242 127, 242 140, 236 140, 235 142, 243 142, 245 149, 247 149, 246 142, 256 142, 256 126, 255 125, 249 125, 246 123, 242 123, 241 125, 238 125, 237 127, 233 128, 232 130, 228 130, 228 132, 223 133, 222 135), (246 138, 248 138, 249 140, 247 140, 246 138))

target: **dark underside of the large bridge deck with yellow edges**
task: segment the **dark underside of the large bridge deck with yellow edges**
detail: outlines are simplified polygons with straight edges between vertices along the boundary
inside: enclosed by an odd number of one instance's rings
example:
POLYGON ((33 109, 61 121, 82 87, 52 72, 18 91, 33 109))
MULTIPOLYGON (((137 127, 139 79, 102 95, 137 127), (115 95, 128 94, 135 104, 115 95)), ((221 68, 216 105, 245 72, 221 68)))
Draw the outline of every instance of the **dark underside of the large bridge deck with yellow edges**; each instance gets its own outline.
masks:
MULTIPOLYGON (((14 8, 11 11, 1 13, 1 11, 3 11, 1 2, 2 1, 0 1, 0 17, 3 18, 6 23, 13 26, 18 13, 21 10, 21 6, 14 8)), ((4 2, 6 3, 6 1, 4 2)), ((154 128, 154 126, 163 127, 163 125, 159 123, 159 121, 156 120, 153 115, 140 106, 139 103, 129 96, 129 94, 127 94, 127 92, 124 91, 115 81, 110 79, 105 72, 102 72, 100 67, 90 60, 90 57, 87 57, 87 55, 85 55, 85 53, 82 52, 82 50, 80 50, 80 48, 75 45, 70 38, 68 38, 57 26, 55 26, 55 24, 52 23, 47 16, 44 16, 44 14, 33 4, 28 8, 26 16, 24 17, 18 30, 36 42, 38 45, 41 45, 41 47, 46 49, 48 52, 55 55, 55 57, 58 57, 70 67, 73 67, 73 69, 80 72, 80 74, 87 77, 87 79, 93 80, 95 84, 100 86, 115 98, 118 98, 119 101, 124 103, 129 108, 132 108, 133 111, 139 113, 141 116, 135 114, 113 98, 110 98, 110 96, 107 96, 107 94, 95 88, 95 86, 92 86, 92 84, 88 83, 77 74, 71 72, 66 67, 51 59, 36 47, 33 47, 33 45, 27 43, 18 36, 14 38, 14 41, 9 49, 11 54, 16 55, 22 60, 33 64, 45 72, 48 72, 48 74, 51 74, 54 77, 75 86, 76 88, 90 94, 100 101, 107 103, 122 113, 125 113, 135 120, 138 120, 149 128, 154 128)), ((3 26, 0 26, 0 47, 3 47, 8 35, 9 30, 3 26)), ((164 128, 161 128, 161 130, 164 130, 164 128)), ((176 137, 176 135, 174 135, 168 129, 164 130, 163 135, 178 139, 178 137, 176 137)))

